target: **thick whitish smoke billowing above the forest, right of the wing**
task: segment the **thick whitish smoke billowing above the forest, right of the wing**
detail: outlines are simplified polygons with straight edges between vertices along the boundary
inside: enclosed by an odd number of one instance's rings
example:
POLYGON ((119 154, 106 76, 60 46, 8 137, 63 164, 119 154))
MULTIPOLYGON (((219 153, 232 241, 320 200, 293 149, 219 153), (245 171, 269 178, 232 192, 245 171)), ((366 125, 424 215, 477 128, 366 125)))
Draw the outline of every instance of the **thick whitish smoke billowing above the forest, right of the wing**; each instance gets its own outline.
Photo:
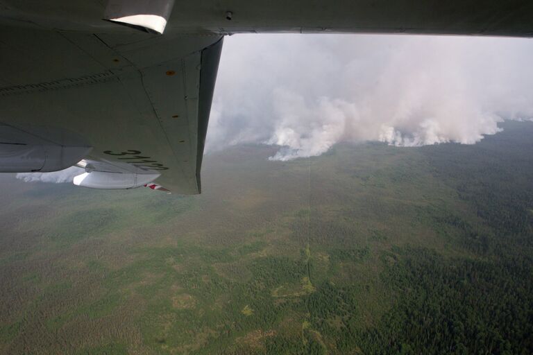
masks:
POLYGON ((339 141, 474 144, 533 117, 533 43, 400 35, 235 35, 219 68, 207 150, 282 146, 320 155, 339 141))

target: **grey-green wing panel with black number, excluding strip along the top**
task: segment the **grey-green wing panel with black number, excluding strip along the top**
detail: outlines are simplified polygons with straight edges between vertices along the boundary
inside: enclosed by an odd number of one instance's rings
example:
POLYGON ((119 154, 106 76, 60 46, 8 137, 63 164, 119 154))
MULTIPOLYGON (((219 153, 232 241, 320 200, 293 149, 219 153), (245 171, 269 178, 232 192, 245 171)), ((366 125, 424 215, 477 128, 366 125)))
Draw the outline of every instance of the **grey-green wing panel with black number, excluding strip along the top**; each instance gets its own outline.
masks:
POLYGON ((155 181, 200 193, 221 46, 221 35, 0 28, 0 148, 10 148, 0 166, 53 171, 85 159, 80 186, 155 181), (35 155, 42 146, 46 164, 35 155))

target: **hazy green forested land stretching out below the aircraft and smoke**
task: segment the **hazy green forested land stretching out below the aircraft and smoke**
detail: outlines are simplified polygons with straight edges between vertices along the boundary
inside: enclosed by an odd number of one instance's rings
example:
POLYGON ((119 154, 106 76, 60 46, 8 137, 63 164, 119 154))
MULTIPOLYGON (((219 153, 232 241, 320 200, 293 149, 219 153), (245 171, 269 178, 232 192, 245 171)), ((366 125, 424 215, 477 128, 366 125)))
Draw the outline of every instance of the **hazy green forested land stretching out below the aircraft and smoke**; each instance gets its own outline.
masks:
POLYGON ((1 178, 1 354, 529 354, 533 124, 205 157, 203 194, 1 178))

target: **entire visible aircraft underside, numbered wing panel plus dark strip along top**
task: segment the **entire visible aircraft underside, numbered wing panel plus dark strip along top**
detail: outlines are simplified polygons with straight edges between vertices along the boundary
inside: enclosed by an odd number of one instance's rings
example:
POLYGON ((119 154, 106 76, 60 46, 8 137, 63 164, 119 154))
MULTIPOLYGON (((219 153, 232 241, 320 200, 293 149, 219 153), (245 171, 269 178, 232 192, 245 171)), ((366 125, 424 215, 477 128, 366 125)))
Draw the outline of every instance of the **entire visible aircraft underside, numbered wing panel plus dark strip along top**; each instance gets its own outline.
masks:
POLYGON ((532 18, 528 0, 0 0, 0 172, 200 193, 223 35, 533 37, 532 18))

